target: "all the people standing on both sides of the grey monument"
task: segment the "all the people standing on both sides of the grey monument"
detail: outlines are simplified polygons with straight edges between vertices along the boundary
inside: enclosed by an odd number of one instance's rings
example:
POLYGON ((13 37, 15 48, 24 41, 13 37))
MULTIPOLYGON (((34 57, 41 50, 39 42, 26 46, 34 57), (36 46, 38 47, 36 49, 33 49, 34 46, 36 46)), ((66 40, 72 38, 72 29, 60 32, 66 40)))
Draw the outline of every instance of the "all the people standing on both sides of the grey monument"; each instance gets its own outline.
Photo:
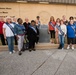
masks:
MULTIPOLYGON (((41 25, 40 17, 37 16, 36 20, 29 22, 28 18, 25 18, 25 22, 21 18, 6 17, 4 21, 3 17, 0 17, 0 38, 2 45, 8 44, 10 54, 14 53, 14 43, 18 45, 19 55, 23 51, 23 43, 25 37, 28 39, 28 49, 31 52, 35 51, 35 43, 39 41, 39 27, 41 25)), ((74 49, 76 43, 76 19, 71 16, 69 21, 65 15, 62 19, 57 18, 56 21, 53 16, 50 17, 48 23, 48 33, 51 35, 51 43, 59 44, 58 49, 64 49, 65 37, 67 38, 67 49, 74 49), (71 45, 71 46, 70 46, 71 45)))

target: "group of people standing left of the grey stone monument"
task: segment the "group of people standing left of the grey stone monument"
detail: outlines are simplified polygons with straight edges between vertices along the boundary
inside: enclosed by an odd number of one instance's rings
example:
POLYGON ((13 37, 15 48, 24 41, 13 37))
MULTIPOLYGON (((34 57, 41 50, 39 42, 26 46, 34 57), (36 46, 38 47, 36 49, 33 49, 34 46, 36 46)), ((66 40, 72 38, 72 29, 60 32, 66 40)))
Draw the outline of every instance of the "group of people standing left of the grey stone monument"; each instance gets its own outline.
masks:
POLYGON ((39 39, 39 16, 37 20, 32 20, 29 22, 28 18, 25 18, 25 22, 21 18, 11 18, 6 17, 6 22, 4 18, 0 17, 0 38, 2 45, 8 44, 9 53, 12 54, 14 50, 14 40, 15 45, 18 45, 19 55, 22 55, 24 39, 27 36, 29 41, 29 51, 35 51, 35 43, 38 43, 39 39))

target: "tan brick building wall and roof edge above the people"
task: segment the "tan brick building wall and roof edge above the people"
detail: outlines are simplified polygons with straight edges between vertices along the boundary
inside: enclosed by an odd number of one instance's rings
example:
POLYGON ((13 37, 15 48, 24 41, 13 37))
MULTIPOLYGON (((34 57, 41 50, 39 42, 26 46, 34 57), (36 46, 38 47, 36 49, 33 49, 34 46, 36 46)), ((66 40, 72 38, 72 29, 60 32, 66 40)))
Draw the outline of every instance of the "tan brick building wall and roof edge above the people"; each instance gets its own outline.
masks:
POLYGON ((62 15, 76 17, 76 0, 0 0, 0 16, 16 16, 29 20, 41 17, 47 24, 50 16, 62 18, 62 15))

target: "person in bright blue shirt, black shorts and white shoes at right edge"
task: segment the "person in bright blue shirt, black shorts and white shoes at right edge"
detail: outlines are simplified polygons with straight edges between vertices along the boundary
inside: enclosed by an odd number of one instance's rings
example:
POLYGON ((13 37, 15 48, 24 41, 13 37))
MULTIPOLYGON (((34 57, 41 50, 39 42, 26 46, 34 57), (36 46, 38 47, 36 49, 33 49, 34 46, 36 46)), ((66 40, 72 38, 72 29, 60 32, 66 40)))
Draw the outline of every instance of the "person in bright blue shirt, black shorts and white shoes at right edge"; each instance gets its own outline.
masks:
POLYGON ((67 39, 68 39, 67 49, 70 49, 70 44, 72 44, 71 48, 74 50, 75 37, 76 37, 76 26, 74 24, 74 20, 71 19, 67 26, 67 39))

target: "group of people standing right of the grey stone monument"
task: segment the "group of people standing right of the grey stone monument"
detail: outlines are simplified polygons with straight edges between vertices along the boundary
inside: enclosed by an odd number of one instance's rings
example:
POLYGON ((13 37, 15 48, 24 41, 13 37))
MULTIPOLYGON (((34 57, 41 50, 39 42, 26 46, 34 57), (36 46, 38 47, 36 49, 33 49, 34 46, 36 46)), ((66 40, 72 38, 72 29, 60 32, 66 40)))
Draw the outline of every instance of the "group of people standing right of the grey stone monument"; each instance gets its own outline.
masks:
POLYGON ((59 44, 58 49, 63 50, 66 37, 67 49, 74 49, 74 44, 76 44, 76 18, 71 16, 68 21, 63 15, 62 19, 57 18, 55 21, 54 17, 51 16, 48 26, 48 33, 51 34, 51 43, 59 44))

